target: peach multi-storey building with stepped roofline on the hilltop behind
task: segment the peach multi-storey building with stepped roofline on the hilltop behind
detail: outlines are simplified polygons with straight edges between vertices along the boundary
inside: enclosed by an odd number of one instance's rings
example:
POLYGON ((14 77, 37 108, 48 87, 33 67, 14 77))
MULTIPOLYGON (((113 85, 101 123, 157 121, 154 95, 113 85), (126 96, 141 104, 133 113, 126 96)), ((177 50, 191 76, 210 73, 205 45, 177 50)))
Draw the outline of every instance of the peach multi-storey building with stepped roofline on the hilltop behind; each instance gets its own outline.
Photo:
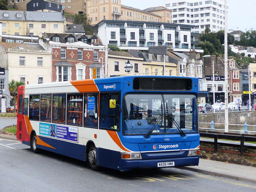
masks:
POLYGON ((101 20, 171 23, 171 11, 165 7, 140 10, 121 5, 121 0, 87 0, 86 14, 89 15, 92 25, 101 20))

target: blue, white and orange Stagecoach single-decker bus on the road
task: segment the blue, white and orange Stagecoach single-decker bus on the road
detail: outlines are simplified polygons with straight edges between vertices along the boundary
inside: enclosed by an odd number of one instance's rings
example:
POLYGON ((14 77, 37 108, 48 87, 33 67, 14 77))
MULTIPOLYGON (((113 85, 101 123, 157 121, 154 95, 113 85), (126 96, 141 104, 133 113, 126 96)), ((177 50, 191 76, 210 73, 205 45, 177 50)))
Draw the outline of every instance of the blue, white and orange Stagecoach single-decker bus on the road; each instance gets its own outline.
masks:
POLYGON ((82 160, 92 170, 196 166, 197 98, 198 78, 178 76, 19 86, 17 139, 34 153, 82 160))

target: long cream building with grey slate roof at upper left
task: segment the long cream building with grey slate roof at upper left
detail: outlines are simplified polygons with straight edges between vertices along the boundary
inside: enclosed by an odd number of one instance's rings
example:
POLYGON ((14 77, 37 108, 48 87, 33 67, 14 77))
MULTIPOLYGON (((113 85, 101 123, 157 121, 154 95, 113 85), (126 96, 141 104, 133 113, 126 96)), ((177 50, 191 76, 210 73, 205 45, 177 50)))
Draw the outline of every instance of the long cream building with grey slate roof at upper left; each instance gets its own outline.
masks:
POLYGON ((64 33, 66 18, 61 12, 0 10, 2 34, 42 37, 45 32, 64 33))

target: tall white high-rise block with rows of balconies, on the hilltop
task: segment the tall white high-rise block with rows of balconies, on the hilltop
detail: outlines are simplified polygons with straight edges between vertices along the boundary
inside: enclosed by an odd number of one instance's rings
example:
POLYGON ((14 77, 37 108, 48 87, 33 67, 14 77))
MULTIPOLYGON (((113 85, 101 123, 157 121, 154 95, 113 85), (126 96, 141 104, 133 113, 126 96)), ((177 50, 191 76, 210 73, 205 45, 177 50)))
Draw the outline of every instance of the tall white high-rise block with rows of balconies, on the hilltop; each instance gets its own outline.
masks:
POLYGON ((206 27, 211 32, 224 30, 224 0, 165 0, 165 7, 172 10, 173 24, 194 25, 193 32, 204 32, 206 27))

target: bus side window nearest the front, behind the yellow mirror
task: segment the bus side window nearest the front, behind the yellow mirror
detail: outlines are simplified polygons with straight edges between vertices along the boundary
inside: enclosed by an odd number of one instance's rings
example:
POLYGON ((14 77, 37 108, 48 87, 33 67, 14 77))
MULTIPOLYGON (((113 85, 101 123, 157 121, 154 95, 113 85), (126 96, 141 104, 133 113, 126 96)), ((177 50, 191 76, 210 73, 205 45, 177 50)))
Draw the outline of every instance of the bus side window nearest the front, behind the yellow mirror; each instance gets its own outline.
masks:
POLYGON ((120 129, 120 94, 100 94, 100 128, 120 129), (110 100, 116 100, 116 108, 109 107, 110 100))

